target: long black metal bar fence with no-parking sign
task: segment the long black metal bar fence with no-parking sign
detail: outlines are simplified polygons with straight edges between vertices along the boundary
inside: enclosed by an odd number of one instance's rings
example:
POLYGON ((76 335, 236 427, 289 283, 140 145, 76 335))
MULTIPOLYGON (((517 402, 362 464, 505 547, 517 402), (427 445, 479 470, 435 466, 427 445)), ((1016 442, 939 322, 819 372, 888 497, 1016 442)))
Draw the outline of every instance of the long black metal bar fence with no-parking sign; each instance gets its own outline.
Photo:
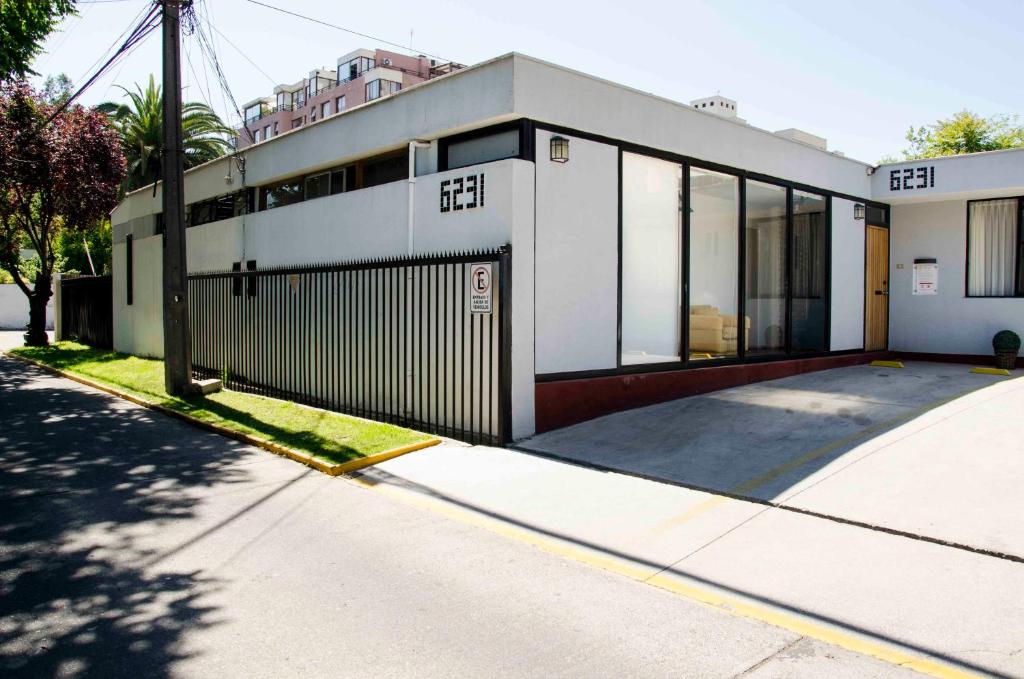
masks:
POLYGON ((505 247, 194 274, 194 372, 240 391, 501 444, 511 434, 511 270, 505 247), (489 288, 474 295, 470 285, 486 287, 487 274, 489 288))

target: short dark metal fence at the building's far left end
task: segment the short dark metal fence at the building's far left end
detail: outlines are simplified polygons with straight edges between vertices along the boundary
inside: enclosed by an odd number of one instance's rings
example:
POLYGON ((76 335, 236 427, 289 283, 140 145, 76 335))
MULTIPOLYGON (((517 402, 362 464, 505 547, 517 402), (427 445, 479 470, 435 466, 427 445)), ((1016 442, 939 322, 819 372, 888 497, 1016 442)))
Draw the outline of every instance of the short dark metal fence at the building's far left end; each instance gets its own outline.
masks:
POLYGON ((60 280, 60 337, 114 346, 114 289, 109 275, 60 280))

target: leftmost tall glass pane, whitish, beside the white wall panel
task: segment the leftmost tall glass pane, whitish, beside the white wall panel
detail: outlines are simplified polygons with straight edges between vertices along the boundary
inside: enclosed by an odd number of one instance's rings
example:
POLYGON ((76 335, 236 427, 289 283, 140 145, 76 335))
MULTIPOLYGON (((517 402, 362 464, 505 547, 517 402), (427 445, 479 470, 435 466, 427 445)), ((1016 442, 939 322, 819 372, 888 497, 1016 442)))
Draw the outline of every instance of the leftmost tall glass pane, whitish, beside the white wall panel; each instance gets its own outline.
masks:
POLYGON ((682 166, 623 154, 624 366, 680 359, 682 166))

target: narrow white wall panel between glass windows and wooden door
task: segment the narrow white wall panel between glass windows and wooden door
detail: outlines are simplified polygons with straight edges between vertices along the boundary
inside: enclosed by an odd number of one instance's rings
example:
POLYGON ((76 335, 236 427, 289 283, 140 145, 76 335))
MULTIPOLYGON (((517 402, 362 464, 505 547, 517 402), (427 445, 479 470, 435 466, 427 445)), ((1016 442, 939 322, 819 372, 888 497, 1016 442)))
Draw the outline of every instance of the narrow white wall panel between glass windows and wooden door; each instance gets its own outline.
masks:
POLYGON ((833 199, 831 348, 864 347, 864 220, 851 201, 833 199))

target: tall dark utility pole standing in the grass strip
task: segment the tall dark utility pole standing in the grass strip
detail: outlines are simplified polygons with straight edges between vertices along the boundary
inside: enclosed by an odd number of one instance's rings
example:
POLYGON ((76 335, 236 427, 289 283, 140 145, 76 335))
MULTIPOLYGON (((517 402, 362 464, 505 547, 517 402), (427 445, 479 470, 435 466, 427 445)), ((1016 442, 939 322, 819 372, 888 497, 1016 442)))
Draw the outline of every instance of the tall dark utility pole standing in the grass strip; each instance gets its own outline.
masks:
POLYGON ((181 6, 191 0, 161 0, 164 29, 164 385, 182 396, 198 391, 191 381, 188 331, 188 270, 185 263, 184 151, 181 147, 181 6))

